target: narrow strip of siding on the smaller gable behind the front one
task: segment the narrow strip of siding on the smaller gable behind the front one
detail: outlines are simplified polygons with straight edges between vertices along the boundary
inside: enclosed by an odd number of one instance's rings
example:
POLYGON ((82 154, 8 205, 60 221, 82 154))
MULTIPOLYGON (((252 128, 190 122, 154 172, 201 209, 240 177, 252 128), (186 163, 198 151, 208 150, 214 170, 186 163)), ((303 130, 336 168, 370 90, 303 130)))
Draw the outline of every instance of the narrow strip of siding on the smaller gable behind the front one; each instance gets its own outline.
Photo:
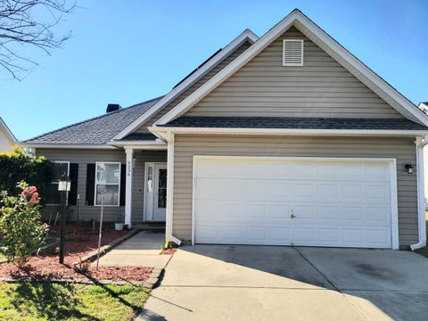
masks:
POLYGON ((207 72, 202 78, 198 79, 192 86, 188 87, 181 95, 179 95, 174 101, 165 106, 161 111, 157 112, 152 116, 151 119, 147 120, 144 125, 138 129, 136 129, 136 133, 145 133, 148 132, 147 127, 152 126, 152 123, 156 120, 160 119, 163 115, 165 115, 168 111, 170 111, 173 107, 177 106, 178 103, 181 103, 185 97, 192 94, 196 89, 205 84, 210 78, 212 78, 218 71, 225 68, 230 62, 235 60, 237 56, 243 53, 248 47, 250 47, 250 43, 245 42, 239 48, 235 50, 235 52, 230 53, 223 61, 219 62, 213 69, 207 72))

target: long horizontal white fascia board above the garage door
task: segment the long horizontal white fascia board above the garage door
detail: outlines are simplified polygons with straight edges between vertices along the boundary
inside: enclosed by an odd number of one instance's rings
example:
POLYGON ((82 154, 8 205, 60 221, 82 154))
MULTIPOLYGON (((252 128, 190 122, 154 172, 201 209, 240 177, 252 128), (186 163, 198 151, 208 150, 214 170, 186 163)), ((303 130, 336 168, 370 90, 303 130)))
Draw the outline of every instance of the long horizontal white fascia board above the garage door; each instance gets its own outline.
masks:
POLYGON ((424 136, 428 130, 379 129, 294 129, 294 128, 149 128, 158 136, 165 133, 201 135, 264 135, 264 136, 424 136))

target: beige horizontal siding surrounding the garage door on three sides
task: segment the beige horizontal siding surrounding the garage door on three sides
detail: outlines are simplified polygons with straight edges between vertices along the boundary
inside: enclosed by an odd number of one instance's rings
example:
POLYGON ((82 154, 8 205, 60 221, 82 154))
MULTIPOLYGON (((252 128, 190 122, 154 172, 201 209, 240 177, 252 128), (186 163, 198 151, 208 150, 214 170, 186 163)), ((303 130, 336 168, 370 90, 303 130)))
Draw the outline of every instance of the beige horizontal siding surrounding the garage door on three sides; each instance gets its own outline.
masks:
POLYGON ((193 155, 396 158, 399 198, 399 244, 418 240, 414 138, 309 136, 175 136, 173 234, 192 236, 193 155))

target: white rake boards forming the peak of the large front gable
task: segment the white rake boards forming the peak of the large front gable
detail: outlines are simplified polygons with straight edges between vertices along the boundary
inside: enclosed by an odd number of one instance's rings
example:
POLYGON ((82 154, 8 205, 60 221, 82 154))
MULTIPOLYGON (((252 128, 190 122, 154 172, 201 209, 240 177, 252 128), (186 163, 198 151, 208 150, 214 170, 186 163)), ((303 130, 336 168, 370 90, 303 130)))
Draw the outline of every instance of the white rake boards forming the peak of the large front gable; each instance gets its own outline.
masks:
POLYGON ((374 71, 370 70, 363 62, 360 62, 342 45, 327 35, 323 29, 320 29, 313 21, 310 21, 302 12, 295 9, 287 15, 284 20, 277 23, 275 27, 268 30, 263 37, 260 37, 254 45, 251 45, 251 47, 237 57, 234 62, 231 62, 225 69, 219 71, 218 74, 195 90, 193 94, 188 95, 185 100, 178 103, 177 106, 167 112, 161 119, 158 119, 153 124, 153 127, 169 123, 169 121, 182 116, 186 111, 191 109, 194 104, 200 102, 203 97, 232 76, 235 71, 241 69, 247 62, 250 62, 252 58, 292 26, 295 26, 312 42, 326 53, 330 54, 333 59, 341 63, 346 70, 349 70, 351 74, 369 87, 376 95, 379 95, 386 103, 389 103, 392 108, 399 111, 404 117, 420 124, 428 125, 428 117, 423 111, 420 111, 413 103, 409 102, 406 97, 399 94, 395 88, 389 85, 383 78, 376 75, 374 71))

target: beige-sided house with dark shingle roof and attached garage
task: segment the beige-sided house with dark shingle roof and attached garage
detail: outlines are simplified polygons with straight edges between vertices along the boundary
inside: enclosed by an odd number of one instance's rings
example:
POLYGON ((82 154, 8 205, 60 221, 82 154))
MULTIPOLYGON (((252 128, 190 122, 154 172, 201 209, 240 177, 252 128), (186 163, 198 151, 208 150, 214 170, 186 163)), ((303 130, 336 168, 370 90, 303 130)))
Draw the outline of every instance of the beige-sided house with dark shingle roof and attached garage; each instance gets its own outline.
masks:
POLYGON ((294 10, 263 37, 245 30, 165 96, 24 144, 74 168, 69 204, 79 195, 84 219, 98 218, 101 187, 108 220, 166 220, 178 244, 415 249, 427 125, 294 10))

